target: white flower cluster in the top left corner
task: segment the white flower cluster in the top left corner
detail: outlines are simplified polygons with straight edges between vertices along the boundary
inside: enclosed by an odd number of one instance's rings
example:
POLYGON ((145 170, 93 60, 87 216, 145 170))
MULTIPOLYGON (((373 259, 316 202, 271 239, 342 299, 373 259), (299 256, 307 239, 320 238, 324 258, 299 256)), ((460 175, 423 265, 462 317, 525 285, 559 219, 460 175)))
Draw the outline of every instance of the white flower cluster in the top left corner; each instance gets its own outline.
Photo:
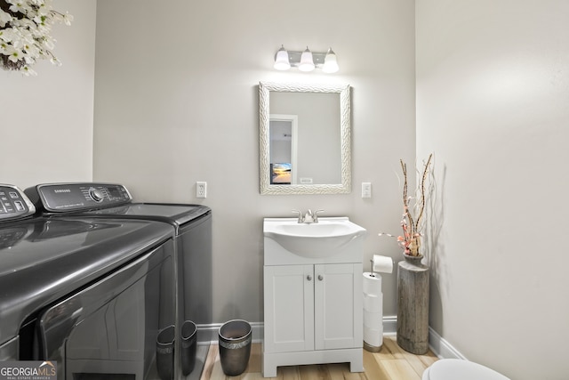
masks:
POLYGON ((36 75, 31 66, 38 59, 61 63, 53 55, 50 36, 56 22, 71 25, 73 16, 52 9, 52 0, 0 0, 0 67, 36 75))

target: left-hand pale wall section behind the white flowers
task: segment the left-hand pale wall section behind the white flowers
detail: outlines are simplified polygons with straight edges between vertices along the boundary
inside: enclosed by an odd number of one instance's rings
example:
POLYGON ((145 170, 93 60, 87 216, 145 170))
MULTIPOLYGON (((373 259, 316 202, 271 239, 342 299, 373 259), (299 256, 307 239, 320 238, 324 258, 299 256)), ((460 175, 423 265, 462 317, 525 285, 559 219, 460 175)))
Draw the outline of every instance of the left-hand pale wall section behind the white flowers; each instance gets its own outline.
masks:
POLYGON ((37 77, 0 69, 0 182, 22 189, 42 182, 91 181, 96 2, 58 0, 75 17, 57 24, 53 53, 37 77))

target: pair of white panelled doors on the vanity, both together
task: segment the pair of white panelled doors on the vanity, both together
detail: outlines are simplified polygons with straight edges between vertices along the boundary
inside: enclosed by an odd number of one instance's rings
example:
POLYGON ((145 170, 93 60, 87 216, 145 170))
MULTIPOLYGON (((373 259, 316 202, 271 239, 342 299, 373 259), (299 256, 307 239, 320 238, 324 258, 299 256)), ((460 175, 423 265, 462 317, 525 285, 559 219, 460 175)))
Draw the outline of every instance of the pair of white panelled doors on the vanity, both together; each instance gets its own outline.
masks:
POLYGON ((361 345, 355 328, 361 274, 361 263, 266 266, 265 351, 361 345))

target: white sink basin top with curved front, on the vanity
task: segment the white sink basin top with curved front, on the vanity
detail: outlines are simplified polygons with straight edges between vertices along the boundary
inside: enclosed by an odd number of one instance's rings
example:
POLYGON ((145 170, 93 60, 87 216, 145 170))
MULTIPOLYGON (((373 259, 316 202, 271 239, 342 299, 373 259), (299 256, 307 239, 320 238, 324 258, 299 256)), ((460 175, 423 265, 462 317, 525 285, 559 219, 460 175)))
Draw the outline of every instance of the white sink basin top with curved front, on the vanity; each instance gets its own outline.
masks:
POLYGON ((365 236, 365 228, 347 217, 318 218, 317 223, 299 223, 297 218, 265 218, 265 238, 287 251, 310 258, 338 255, 352 240, 365 236))

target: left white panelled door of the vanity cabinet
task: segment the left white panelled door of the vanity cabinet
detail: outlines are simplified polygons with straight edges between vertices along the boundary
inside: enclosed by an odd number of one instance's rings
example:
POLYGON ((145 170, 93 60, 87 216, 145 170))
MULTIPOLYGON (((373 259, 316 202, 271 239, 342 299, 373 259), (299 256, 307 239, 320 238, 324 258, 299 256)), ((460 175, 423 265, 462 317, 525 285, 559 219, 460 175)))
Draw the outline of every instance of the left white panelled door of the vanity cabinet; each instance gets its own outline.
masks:
POLYGON ((314 350, 313 265, 264 267, 265 352, 314 350))

